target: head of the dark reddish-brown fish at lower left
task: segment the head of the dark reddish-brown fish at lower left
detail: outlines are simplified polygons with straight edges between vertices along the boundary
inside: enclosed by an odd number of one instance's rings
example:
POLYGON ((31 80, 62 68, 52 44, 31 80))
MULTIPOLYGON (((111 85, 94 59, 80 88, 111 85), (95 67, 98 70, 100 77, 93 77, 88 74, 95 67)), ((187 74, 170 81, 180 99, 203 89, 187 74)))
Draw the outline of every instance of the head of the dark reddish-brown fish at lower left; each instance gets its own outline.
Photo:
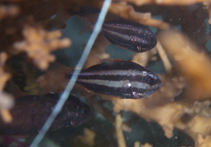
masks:
POLYGON ((84 102, 77 100, 67 102, 68 114, 65 118, 64 126, 79 126, 85 123, 91 116, 91 109, 84 102))

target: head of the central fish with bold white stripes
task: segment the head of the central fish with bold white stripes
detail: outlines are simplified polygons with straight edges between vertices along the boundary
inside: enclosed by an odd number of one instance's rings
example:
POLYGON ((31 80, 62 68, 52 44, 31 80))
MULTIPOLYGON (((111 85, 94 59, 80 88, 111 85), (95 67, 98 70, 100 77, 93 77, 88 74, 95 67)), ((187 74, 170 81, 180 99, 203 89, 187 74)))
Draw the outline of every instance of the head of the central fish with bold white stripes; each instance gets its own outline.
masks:
POLYGON ((136 81, 136 83, 132 85, 132 98, 140 99, 147 97, 158 90, 161 86, 162 83, 158 75, 152 72, 147 72, 140 81, 136 81))

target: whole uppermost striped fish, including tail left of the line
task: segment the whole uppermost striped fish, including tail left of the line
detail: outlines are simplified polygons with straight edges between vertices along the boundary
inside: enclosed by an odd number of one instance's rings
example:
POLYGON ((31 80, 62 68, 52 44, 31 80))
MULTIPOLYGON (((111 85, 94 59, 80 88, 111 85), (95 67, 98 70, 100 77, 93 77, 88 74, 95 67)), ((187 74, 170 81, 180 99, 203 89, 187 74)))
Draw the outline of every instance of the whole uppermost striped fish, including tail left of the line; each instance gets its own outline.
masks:
MULTIPOLYGON (((94 24, 99 10, 92 7, 82 7, 78 12, 69 10, 69 15, 73 14, 88 18, 94 24)), ((101 31, 110 43, 133 52, 146 52, 156 46, 157 37, 148 26, 113 15, 110 17, 113 18, 103 23, 101 31)), ((94 26, 86 27, 82 32, 94 26)))

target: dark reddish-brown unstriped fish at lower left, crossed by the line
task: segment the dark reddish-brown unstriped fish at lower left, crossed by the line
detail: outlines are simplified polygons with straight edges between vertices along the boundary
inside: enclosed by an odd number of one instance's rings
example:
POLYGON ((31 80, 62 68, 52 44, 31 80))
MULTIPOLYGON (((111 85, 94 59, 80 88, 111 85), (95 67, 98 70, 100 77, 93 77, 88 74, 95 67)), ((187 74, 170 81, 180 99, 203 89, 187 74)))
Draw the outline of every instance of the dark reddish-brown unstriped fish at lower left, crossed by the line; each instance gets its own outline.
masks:
MULTIPOLYGON (((47 94, 43 96, 27 95, 17 98, 15 107, 10 111, 13 121, 4 123, 0 119, 0 134, 18 136, 37 134, 52 112, 59 96, 60 94, 47 94)), ((63 126, 81 125, 87 121, 90 113, 91 111, 85 103, 70 95, 49 131, 63 126)))

